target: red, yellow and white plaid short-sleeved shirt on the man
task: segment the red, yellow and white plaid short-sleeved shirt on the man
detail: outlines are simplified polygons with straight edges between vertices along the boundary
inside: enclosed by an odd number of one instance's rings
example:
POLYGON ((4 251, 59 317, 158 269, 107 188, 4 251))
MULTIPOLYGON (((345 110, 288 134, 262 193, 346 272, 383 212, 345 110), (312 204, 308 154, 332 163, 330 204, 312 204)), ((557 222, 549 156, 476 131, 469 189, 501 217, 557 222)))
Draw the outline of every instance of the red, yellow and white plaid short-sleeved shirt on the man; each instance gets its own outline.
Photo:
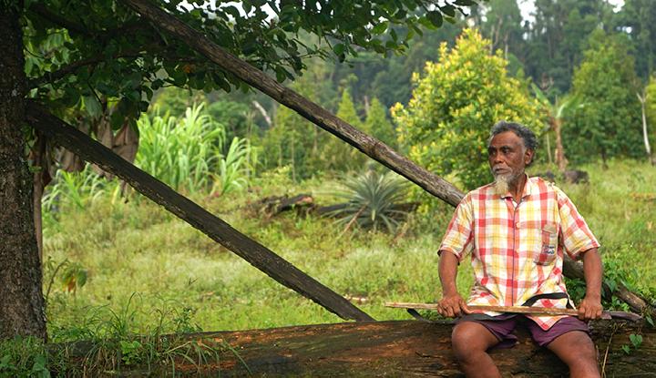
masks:
MULTIPOLYGON (((541 293, 567 292, 563 250, 572 259, 599 247, 567 195, 539 178, 527 179, 519 203, 489 184, 467 193, 456 209, 440 251, 458 261, 471 253, 476 281, 468 304, 520 306, 541 293)), ((565 308, 569 300, 534 306, 565 308)), ((487 312, 498 315, 498 312, 487 312)), ((528 316, 548 330, 564 316, 528 316)))

